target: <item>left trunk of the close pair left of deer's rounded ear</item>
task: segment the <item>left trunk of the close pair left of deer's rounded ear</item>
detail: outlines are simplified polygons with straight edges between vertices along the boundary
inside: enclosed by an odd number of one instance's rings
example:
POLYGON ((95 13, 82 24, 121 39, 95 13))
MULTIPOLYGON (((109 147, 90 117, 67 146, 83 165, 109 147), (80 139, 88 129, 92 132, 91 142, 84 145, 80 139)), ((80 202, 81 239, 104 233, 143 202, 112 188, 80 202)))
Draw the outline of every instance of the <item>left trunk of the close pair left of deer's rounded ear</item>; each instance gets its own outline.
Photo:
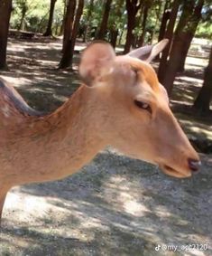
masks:
POLYGON ((69 39, 71 38, 75 9, 76 9, 76 0, 69 0, 69 3, 67 5, 66 16, 65 16, 65 23, 64 23, 62 52, 65 51, 66 44, 69 42, 69 39))

